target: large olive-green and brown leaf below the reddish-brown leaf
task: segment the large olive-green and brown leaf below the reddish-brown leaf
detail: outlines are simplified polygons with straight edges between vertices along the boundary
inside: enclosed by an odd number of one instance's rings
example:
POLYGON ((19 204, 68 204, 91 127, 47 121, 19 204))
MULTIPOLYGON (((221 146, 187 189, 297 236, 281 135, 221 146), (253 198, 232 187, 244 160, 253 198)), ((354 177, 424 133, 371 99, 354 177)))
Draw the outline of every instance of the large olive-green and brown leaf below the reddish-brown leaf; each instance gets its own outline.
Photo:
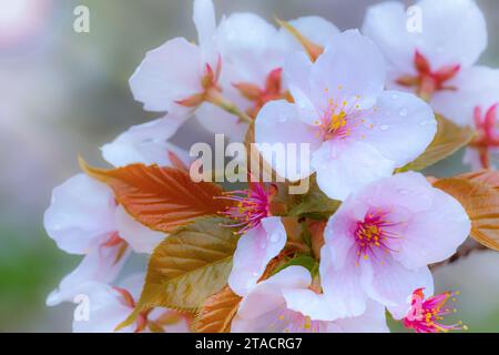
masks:
POLYGON ((238 236, 222 217, 197 219, 156 246, 138 305, 119 328, 132 324, 147 308, 194 312, 221 291, 232 270, 238 236))

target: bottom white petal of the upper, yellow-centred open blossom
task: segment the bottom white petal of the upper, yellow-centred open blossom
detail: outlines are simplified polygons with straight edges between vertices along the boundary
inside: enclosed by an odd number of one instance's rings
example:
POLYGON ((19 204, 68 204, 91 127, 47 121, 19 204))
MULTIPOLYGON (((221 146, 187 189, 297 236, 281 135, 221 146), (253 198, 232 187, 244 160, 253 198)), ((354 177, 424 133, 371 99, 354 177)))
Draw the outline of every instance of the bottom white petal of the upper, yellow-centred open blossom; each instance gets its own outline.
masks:
POLYGON ((328 141, 313 154, 317 184, 330 199, 345 200, 352 192, 394 172, 395 163, 371 145, 358 141, 328 141))

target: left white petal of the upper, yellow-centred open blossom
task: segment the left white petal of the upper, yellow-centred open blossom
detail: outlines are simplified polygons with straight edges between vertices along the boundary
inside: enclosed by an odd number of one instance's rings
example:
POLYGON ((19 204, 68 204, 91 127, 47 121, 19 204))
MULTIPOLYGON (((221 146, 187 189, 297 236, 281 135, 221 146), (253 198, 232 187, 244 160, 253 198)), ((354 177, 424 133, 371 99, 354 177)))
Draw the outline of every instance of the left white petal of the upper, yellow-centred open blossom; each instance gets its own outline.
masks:
POLYGON ((304 112, 289 102, 272 101, 262 108, 255 123, 255 142, 259 144, 257 148, 263 158, 281 176, 291 181, 302 180, 312 173, 309 156, 302 156, 307 154, 301 154, 301 144, 308 144, 309 152, 320 146, 317 128, 304 123, 302 114, 304 112), (293 151, 288 143, 296 149, 293 151), (281 149, 284 154, 279 159, 274 150, 264 149, 262 144, 281 149), (296 169, 293 169, 293 163, 296 163, 296 169))

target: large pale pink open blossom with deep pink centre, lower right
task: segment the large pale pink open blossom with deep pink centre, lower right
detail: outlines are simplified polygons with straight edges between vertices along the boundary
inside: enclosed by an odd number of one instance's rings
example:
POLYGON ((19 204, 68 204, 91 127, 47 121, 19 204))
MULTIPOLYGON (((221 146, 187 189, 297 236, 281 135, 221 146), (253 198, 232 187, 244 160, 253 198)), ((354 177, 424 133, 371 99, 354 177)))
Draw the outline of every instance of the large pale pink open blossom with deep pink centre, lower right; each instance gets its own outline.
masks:
POLYGON ((451 256, 469 232, 462 206, 419 173, 370 183, 329 219, 324 293, 345 316, 363 314, 368 298, 398 314, 414 290, 432 292, 427 265, 451 256))

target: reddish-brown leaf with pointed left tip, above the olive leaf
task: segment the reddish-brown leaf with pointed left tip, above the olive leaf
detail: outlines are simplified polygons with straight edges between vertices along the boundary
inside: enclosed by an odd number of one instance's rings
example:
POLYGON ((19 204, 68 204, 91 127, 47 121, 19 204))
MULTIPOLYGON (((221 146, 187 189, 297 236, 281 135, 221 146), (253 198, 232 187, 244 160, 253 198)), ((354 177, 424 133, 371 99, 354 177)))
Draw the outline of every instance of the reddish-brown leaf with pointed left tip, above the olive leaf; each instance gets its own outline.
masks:
POLYGON ((91 176, 111 186, 120 204, 135 220, 152 230, 170 233, 203 215, 224 210, 227 200, 216 199, 222 189, 213 183, 195 183, 189 173, 172 168, 133 164, 119 169, 96 169, 81 161, 91 176))

